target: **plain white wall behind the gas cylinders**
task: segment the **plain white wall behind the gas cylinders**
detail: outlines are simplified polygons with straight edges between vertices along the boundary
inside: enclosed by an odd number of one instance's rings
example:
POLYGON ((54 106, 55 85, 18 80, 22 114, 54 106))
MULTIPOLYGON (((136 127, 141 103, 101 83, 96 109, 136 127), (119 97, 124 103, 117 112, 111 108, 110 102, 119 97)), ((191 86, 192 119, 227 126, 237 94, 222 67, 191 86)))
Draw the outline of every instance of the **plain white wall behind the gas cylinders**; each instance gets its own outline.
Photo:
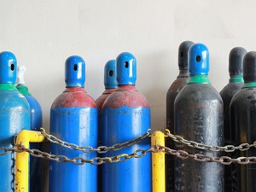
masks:
POLYGON ((26 65, 26 84, 42 105, 47 130, 49 108, 65 89, 68 56, 84 58, 85 90, 96 99, 106 61, 129 51, 137 57, 137 89, 148 98, 152 128, 165 129, 178 45, 207 45, 209 78, 219 91, 228 83, 230 49, 256 50, 255 9, 253 0, 0 0, 0 51, 26 65))

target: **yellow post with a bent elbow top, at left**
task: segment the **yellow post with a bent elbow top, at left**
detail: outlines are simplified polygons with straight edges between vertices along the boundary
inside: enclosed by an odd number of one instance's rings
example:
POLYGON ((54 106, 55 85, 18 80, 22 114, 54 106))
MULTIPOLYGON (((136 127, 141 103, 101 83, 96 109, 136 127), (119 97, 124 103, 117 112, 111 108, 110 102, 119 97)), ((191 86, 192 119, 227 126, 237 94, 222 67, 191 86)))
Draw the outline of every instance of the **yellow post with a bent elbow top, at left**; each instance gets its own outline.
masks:
MULTIPOLYGON (((17 136, 16 144, 29 148, 29 143, 42 143, 44 135, 39 131, 22 130, 17 136)), ((27 152, 15 153, 15 192, 29 191, 29 154, 27 152)))

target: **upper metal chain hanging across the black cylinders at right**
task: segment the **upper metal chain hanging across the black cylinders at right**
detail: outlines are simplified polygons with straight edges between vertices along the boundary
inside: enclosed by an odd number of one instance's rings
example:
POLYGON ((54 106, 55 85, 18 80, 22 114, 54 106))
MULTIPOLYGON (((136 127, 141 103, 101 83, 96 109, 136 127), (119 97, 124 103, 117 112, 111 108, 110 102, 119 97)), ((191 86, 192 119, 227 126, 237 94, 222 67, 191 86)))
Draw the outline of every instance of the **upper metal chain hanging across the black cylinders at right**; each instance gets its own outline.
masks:
POLYGON ((206 145, 204 143, 196 143, 194 141, 189 141, 187 139, 184 139, 183 137, 172 135, 169 130, 166 130, 166 135, 172 138, 172 140, 176 143, 183 143, 184 145, 187 145, 190 148, 198 148, 201 150, 209 150, 213 152, 218 152, 218 151, 234 152, 235 150, 247 151, 249 148, 253 148, 253 147, 256 148, 256 141, 253 142, 252 144, 241 143, 238 146, 226 145, 224 147, 220 147, 217 145, 206 145))

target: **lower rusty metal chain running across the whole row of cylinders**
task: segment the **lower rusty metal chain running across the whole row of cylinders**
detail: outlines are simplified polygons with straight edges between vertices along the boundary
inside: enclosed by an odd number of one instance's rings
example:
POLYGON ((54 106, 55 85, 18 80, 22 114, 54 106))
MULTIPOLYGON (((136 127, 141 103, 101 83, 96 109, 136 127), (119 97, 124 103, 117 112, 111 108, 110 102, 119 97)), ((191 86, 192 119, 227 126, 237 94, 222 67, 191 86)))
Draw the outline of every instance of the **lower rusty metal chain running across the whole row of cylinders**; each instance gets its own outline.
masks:
POLYGON ((148 149, 137 149, 132 154, 118 154, 111 157, 94 157, 92 159, 84 159, 83 157, 74 157, 74 158, 68 158, 65 155, 55 155, 55 154, 49 154, 46 152, 42 152, 38 149, 30 149, 25 148, 24 145, 18 144, 15 145, 13 148, 0 148, 3 150, 3 153, 0 153, 0 155, 7 154, 9 152, 27 152, 31 154, 34 157, 42 158, 45 160, 54 160, 59 163, 67 163, 72 162, 74 165, 84 165, 85 163, 90 163, 92 165, 102 165, 104 163, 116 163, 116 162, 123 162, 125 160, 130 160, 131 158, 141 158, 148 152, 151 153, 165 153, 165 154, 172 154, 174 156, 177 156, 181 159, 193 159, 201 162, 218 162, 223 165, 230 165, 231 163, 236 163, 240 165, 246 165, 246 164, 255 164, 256 163, 256 157, 238 157, 236 159, 232 159, 228 156, 222 156, 222 157, 212 157, 209 155, 204 154, 189 154, 186 151, 183 150, 175 150, 172 148, 167 148, 165 146, 161 145, 153 145, 151 148, 148 149))

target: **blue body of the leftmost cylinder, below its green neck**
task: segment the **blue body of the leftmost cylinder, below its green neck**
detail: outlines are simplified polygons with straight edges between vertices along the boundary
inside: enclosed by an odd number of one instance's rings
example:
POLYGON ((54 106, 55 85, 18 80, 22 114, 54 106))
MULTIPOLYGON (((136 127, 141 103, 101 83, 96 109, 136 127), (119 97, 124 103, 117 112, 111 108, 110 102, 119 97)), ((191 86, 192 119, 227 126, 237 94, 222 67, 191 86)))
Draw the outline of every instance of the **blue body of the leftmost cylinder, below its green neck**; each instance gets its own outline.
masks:
MULTIPOLYGON (((1 86, 1 84, 0 84, 1 86)), ((22 129, 30 128, 30 108, 24 96, 18 90, 0 90, 0 146, 12 148, 14 137, 22 129)), ((0 157, 1 191, 13 192, 15 187, 14 153, 0 157)))

